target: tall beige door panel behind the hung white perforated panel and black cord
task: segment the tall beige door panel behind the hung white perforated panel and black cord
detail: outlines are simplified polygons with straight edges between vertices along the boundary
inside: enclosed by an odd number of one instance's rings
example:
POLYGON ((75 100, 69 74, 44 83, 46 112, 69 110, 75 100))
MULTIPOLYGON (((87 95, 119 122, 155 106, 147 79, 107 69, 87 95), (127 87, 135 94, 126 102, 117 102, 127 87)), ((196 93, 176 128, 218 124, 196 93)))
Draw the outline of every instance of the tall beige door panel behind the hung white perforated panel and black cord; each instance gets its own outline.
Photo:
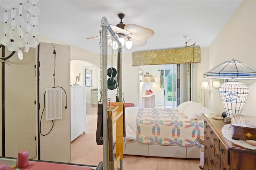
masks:
POLYGON ((40 42, 39 61, 40 160, 70 162, 70 46, 40 42), (62 118, 54 120, 53 126, 52 121, 46 121, 44 102, 47 100, 44 94, 47 88, 54 87, 61 87, 63 90, 62 118))

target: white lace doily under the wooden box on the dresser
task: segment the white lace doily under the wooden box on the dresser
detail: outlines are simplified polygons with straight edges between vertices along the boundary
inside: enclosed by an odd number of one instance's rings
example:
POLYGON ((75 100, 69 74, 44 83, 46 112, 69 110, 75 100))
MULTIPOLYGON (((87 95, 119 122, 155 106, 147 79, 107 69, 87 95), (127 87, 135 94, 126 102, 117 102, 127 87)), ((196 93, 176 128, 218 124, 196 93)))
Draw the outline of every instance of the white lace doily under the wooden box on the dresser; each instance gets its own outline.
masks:
POLYGON ((231 126, 231 123, 230 124, 227 124, 227 125, 224 125, 221 129, 221 132, 223 134, 223 136, 233 142, 234 144, 237 144, 239 146, 243 146, 244 148, 248 148, 248 149, 253 149, 253 150, 256 150, 256 146, 252 146, 248 143, 246 143, 246 140, 243 140, 243 139, 240 139, 240 140, 234 140, 232 139, 232 136, 233 136, 233 128, 231 126))

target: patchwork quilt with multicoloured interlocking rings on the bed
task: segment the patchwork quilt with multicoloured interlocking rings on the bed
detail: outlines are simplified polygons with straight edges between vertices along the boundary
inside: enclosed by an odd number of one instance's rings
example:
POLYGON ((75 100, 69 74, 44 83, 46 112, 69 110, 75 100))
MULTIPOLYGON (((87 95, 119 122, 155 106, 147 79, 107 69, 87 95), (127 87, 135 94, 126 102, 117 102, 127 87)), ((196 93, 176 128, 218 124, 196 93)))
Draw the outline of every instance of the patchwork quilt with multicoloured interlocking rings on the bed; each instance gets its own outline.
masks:
MULTIPOLYGON (((133 108, 134 111, 135 108, 133 108)), ((196 138, 204 135, 204 119, 188 121, 177 109, 172 108, 139 108, 136 116, 136 130, 133 129, 133 136, 128 142, 138 140, 144 144, 158 142, 162 145, 178 144, 180 146, 202 147, 196 138)), ((134 113, 133 113, 134 114, 134 113)), ((129 115, 129 111, 126 111, 129 115)), ((135 117, 133 116, 133 119, 135 117)), ((130 123, 126 118, 126 133, 131 134, 128 129, 130 123)), ((132 136, 132 135, 131 135, 132 136)), ((126 138, 129 138, 126 136, 126 138)))

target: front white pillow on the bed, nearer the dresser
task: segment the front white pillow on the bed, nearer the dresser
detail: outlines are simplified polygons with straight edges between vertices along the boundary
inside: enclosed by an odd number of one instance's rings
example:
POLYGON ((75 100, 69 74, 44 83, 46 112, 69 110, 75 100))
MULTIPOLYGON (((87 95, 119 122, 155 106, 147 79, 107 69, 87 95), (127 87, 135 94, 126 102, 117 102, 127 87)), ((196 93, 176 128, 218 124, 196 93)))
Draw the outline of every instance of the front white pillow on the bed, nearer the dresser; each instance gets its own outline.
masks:
POLYGON ((203 118, 203 113, 213 114, 214 112, 204 107, 201 103, 196 103, 187 107, 182 114, 188 117, 188 120, 191 121, 203 118))

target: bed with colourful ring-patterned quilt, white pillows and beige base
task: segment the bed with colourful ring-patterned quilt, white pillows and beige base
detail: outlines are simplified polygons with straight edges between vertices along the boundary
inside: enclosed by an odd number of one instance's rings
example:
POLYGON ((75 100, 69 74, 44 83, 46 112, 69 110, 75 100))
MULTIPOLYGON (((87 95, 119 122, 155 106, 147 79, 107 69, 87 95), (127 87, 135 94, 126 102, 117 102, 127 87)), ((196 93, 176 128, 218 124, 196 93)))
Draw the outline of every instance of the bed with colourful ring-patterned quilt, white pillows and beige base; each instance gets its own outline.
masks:
POLYGON ((196 138, 204 136, 202 114, 213 113, 192 101, 174 108, 125 108, 124 154, 173 158, 200 158, 196 138))

